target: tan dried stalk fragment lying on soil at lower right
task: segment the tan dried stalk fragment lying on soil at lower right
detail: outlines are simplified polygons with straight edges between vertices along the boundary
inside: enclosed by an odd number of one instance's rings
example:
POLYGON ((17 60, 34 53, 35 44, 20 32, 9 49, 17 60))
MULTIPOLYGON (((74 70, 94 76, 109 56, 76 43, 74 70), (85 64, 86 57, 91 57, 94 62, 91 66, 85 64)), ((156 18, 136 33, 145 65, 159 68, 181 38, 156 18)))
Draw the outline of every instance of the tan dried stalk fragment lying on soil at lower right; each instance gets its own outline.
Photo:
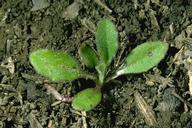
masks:
POLYGON ((157 124, 155 113, 152 108, 145 102, 141 94, 136 91, 134 93, 135 102, 137 104, 137 108, 145 117, 145 121, 149 126, 155 126, 157 124))

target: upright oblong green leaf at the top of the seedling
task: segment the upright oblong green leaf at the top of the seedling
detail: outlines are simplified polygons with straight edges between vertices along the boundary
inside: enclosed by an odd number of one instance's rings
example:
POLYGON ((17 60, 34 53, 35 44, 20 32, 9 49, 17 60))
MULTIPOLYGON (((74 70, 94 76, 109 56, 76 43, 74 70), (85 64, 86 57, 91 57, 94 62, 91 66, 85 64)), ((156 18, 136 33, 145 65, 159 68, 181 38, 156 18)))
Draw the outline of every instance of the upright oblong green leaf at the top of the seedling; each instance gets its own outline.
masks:
POLYGON ((109 65, 118 49, 118 33, 110 20, 103 19, 99 22, 96 31, 96 46, 101 62, 109 65))

